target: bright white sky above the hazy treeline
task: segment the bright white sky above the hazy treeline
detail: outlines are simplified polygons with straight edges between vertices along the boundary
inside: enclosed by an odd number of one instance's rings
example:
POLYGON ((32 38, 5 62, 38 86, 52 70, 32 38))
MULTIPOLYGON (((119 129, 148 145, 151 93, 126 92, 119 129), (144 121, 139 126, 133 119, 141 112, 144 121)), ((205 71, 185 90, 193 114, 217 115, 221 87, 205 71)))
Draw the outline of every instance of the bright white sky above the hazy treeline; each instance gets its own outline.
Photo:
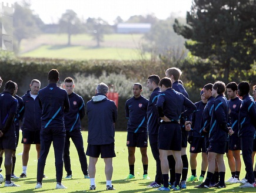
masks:
MULTIPOLYGON (((67 9, 75 11, 80 19, 102 18, 112 24, 117 16, 126 21, 132 15, 154 13, 159 19, 171 14, 186 16, 192 0, 26 0, 31 9, 44 23, 57 23, 67 9)), ((22 2, 22 0, 2 0, 1 2, 22 2)))

